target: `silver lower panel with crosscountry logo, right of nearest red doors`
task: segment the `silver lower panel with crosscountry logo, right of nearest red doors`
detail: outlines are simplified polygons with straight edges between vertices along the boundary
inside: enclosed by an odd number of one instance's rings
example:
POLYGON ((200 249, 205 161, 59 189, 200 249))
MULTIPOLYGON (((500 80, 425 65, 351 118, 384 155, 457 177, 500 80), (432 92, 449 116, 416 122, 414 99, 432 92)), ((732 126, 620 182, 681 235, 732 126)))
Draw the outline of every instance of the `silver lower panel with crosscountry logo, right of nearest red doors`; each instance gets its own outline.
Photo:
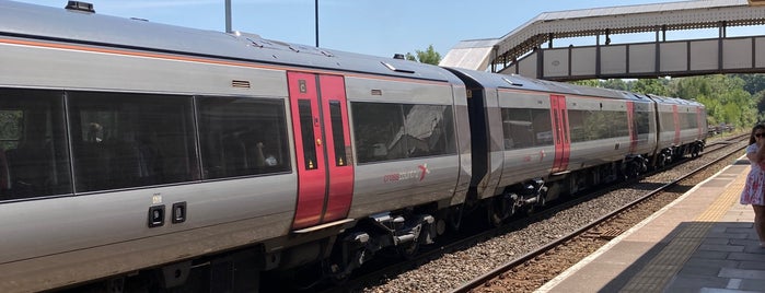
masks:
POLYGON ((454 178, 460 173, 460 157, 422 157, 356 166, 353 202, 348 218, 449 200, 454 194, 454 178), (427 169, 424 174, 424 168, 427 169), (421 177, 420 179, 420 176, 421 177))

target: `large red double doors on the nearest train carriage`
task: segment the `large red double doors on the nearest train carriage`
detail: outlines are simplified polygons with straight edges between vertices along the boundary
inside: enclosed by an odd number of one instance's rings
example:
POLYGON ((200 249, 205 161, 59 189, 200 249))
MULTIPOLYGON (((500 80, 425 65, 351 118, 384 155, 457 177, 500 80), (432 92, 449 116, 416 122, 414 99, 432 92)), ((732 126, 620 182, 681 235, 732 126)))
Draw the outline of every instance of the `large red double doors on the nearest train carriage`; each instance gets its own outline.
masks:
POLYGON ((288 72, 298 168, 293 230, 348 215, 353 191, 343 77, 288 72))

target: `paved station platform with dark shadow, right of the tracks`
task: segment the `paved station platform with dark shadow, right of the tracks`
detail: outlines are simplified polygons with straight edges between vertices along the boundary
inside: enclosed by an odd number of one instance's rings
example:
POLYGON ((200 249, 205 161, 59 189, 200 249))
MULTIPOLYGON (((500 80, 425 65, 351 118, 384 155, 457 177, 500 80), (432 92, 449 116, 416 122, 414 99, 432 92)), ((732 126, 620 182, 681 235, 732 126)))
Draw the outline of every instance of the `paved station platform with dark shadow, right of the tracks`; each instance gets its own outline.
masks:
POLYGON ((765 292, 740 157, 536 292, 765 292))

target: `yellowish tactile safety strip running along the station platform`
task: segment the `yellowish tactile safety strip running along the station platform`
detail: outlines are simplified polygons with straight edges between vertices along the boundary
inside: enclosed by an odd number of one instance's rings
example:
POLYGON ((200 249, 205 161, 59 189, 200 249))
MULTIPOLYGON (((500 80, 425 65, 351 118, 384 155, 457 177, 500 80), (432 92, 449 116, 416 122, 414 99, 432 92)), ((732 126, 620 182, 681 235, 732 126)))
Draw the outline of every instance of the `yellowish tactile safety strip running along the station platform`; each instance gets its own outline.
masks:
POLYGON ((621 292, 662 292, 667 284, 683 268, 696 251, 709 228, 737 202, 746 181, 749 168, 741 173, 720 197, 686 225, 646 267, 640 270, 621 292))

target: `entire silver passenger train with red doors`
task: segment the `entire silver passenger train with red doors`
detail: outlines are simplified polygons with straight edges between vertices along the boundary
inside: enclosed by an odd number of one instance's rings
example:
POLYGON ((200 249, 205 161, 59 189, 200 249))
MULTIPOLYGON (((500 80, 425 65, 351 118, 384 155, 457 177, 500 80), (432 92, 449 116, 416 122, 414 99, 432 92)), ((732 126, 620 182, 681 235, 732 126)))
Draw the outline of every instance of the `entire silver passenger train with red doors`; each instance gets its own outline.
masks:
POLYGON ((704 105, 0 1, 0 291, 343 278, 698 155, 704 105))

